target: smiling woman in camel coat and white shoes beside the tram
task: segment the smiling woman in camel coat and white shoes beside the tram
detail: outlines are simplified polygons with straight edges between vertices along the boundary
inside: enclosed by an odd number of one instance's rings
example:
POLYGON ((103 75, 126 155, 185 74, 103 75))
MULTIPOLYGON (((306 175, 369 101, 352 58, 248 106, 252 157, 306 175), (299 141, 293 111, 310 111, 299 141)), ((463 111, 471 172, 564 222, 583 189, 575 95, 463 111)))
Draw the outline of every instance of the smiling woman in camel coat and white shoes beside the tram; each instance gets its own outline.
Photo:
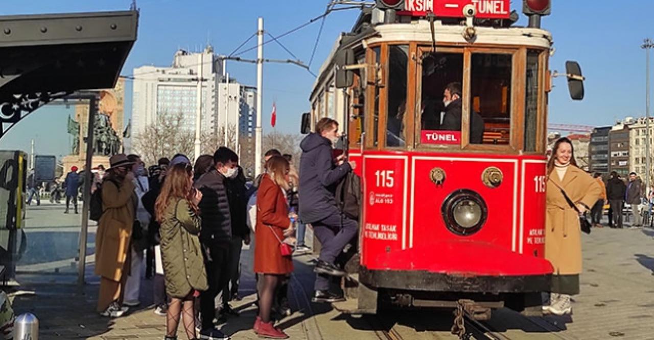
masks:
POLYGON ((570 313, 570 295, 579 294, 581 273, 581 226, 579 213, 589 210, 602 188, 589 174, 577 168, 572 143, 560 138, 547 164, 547 226, 545 258, 554 267, 551 304, 545 311, 570 313), (561 193, 565 191, 573 208, 561 193), (578 210, 578 211, 577 211, 578 210))

